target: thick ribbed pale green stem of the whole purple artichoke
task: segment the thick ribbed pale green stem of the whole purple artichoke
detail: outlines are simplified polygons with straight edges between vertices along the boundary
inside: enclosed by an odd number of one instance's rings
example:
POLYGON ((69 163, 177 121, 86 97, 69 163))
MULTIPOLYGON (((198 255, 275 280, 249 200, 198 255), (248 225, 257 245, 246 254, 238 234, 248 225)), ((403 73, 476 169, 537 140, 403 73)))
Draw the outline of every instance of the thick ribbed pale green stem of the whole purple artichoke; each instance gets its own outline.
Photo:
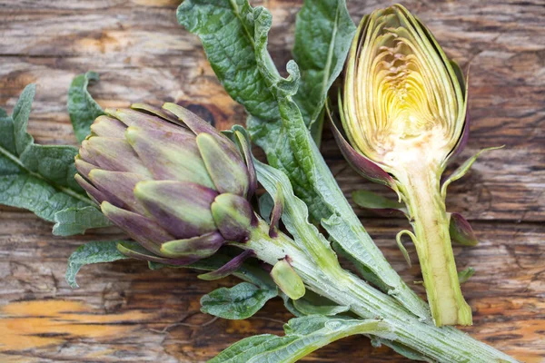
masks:
POLYGON ((372 288, 352 273, 342 270, 336 263, 322 270, 289 237, 279 233, 277 238, 271 238, 268 231, 269 226, 260 221, 252 231, 250 240, 236 245, 252 249, 257 258, 270 264, 288 255, 293 269, 308 289, 340 305, 350 306, 352 312, 363 319, 384 319, 393 329, 392 337, 395 337, 395 342, 439 362, 516 362, 460 330, 438 328, 421 322, 395 299, 372 288))

